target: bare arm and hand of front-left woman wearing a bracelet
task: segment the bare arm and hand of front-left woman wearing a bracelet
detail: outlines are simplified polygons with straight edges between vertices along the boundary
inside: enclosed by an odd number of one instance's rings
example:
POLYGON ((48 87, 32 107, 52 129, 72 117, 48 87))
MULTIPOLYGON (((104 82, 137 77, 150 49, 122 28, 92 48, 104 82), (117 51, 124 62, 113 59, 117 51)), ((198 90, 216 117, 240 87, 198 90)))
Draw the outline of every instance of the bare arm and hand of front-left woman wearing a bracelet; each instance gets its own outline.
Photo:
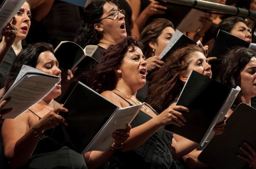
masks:
POLYGON ((4 155, 11 167, 16 168, 24 165, 32 155, 38 142, 38 137, 34 136, 34 131, 32 130, 34 123, 39 135, 43 130, 54 128, 60 122, 67 125, 64 118, 56 114, 60 110, 67 112, 65 108, 56 108, 38 121, 35 115, 27 111, 15 119, 4 120, 1 130, 4 155))

